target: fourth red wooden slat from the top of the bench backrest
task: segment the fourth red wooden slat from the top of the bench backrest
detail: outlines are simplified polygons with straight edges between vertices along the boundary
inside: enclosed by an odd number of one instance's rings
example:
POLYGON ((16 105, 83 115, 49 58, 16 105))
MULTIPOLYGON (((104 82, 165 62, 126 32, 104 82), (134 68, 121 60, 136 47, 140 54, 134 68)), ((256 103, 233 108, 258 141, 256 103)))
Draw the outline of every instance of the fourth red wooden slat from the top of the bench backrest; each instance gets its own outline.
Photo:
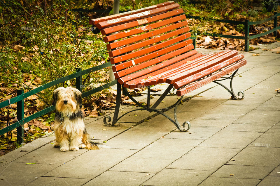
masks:
MULTIPOLYGON (((162 15, 166 15, 166 17, 164 17, 164 18, 169 17, 168 13, 164 13, 162 15)), ((170 23, 178 22, 178 21, 181 21, 183 19, 186 19, 185 14, 184 15, 179 15, 179 16, 176 16, 176 17, 171 17, 170 19, 159 21, 159 22, 149 24, 149 25, 146 25, 146 26, 141 26, 141 27, 138 27, 138 28, 134 28, 134 29, 131 29, 131 30, 128 30, 128 31, 123 31, 123 32, 119 32, 119 33, 116 33, 116 34, 108 35, 108 36, 103 37, 103 39, 104 39, 104 42, 107 43, 107 42, 110 42, 110 41, 113 41, 113 40, 118 40, 120 38, 128 37, 128 36, 135 35, 135 34, 139 34, 141 32, 145 32, 145 31, 149 31, 149 30, 152 30, 152 29, 155 29, 155 28, 158 28, 158 27, 170 24, 170 23)))

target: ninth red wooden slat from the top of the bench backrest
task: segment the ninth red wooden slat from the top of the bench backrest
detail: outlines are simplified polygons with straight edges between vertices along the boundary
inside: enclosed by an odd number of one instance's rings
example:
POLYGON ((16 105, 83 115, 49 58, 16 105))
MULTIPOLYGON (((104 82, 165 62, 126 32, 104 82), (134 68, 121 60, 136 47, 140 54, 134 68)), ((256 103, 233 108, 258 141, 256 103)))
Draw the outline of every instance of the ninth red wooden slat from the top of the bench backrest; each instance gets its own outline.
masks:
MULTIPOLYGON (((131 73, 133 73, 133 72, 136 72, 136 71, 145 69, 145 68, 147 68, 147 67, 150 67, 150 66, 152 66, 152 65, 155 65, 155 64, 157 64, 157 63, 160 63, 160 62, 162 62, 162 61, 164 61, 164 60, 170 59, 170 58, 172 58, 172 57, 174 57, 174 56, 178 56, 178 55, 181 54, 181 53, 190 51, 190 50, 192 50, 193 48, 194 48, 193 45, 188 45, 188 46, 186 46, 186 47, 183 47, 183 48, 178 49, 178 50, 176 50, 176 51, 167 53, 167 54, 165 54, 165 55, 163 55, 163 56, 160 56, 160 57, 158 57, 158 58, 155 58, 155 59, 152 59, 152 60, 143 62, 143 63, 141 63, 141 64, 139 64, 139 65, 134 66, 134 67, 129 67, 128 69, 124 69, 124 70, 118 71, 118 72, 114 73, 115 78, 120 78, 120 77, 122 77, 122 76, 127 76, 128 74, 131 74, 131 73)), ((142 72, 143 72, 143 71, 142 71, 142 72)), ((144 75, 144 74, 142 74, 142 75, 144 75)), ((135 74, 132 74, 132 75, 130 75, 130 76, 127 76, 127 78, 136 78, 136 77, 134 77, 134 76, 135 76, 135 74)))

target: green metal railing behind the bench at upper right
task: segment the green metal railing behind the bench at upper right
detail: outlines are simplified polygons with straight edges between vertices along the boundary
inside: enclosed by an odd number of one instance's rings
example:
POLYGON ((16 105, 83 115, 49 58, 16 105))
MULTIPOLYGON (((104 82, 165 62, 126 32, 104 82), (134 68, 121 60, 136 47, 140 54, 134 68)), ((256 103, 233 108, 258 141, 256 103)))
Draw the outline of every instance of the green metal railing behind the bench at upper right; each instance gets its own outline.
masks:
MULTIPOLYGON (((211 21, 216 21, 216 22, 223 22, 223 23, 231 23, 231 24, 241 24, 244 25, 245 28, 245 36, 236 36, 236 35, 224 35, 224 34, 215 34, 215 33, 203 33, 204 35, 210 35, 210 36, 215 36, 215 37, 225 37, 225 38, 232 38, 232 39, 239 39, 239 40, 245 40, 245 51, 248 52, 249 51, 249 40, 257 38, 257 37, 261 37, 267 34, 270 34, 273 32, 273 35, 276 36, 277 34, 277 30, 280 29, 280 26, 277 27, 277 17, 280 16, 280 13, 274 12, 274 15, 264 19, 262 21, 255 21, 255 22, 249 22, 248 20, 245 21, 234 21, 234 20, 227 20, 227 19, 212 19, 212 18, 206 18, 206 17, 200 17, 200 16, 192 16, 192 15, 187 15, 185 14, 187 18, 189 19, 208 19, 211 21), (255 34, 255 35, 249 35, 249 26, 250 25, 258 25, 258 24, 262 24, 265 22, 268 22, 270 20, 273 19, 273 29, 260 33, 260 34, 255 34)), ((200 33, 198 33, 200 34, 200 33)), ((195 40, 194 40, 194 46, 195 46, 195 40)))

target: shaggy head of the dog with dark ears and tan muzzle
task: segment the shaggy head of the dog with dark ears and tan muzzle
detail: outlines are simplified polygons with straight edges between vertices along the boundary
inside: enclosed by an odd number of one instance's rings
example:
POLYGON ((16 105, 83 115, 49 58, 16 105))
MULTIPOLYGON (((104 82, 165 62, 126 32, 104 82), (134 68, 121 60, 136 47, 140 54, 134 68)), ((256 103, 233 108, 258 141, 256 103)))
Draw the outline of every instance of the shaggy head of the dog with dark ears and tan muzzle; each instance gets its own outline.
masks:
POLYGON ((82 107, 82 93, 74 87, 58 87, 53 91, 53 105, 63 115, 77 113, 82 107))

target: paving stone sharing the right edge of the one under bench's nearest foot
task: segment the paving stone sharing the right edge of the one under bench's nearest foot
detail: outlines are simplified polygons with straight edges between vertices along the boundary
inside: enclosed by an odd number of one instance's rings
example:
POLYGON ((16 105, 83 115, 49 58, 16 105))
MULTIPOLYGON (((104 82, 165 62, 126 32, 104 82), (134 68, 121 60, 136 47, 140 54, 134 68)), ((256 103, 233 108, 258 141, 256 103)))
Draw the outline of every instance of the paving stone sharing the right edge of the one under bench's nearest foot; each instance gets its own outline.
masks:
POLYGON ((221 130, 200 145, 206 146, 206 144, 210 144, 211 147, 217 148, 243 149, 261 134, 262 133, 221 130))

